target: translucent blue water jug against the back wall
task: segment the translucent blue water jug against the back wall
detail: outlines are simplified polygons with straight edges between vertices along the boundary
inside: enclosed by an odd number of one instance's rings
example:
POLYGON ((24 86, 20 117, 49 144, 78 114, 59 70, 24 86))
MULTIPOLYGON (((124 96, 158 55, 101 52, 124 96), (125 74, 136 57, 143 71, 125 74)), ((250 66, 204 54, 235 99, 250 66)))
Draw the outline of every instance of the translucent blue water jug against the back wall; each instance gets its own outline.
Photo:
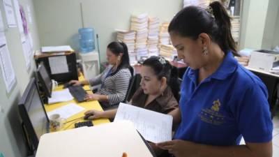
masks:
POLYGON ((80 52, 86 53, 95 50, 94 29, 82 28, 78 31, 80 34, 80 52))

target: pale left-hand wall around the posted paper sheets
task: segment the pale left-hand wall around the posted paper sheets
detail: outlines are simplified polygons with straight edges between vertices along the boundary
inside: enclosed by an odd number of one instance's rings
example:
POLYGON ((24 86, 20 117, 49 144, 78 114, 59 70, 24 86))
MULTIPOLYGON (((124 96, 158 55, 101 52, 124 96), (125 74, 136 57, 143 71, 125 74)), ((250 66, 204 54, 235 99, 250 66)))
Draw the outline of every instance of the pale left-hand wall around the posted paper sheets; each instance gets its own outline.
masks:
MULTIPOLYGON (((33 37, 34 49, 38 50, 40 43, 38 42, 38 30, 36 18, 34 17, 33 1, 19 0, 19 2, 23 6, 25 13, 27 13, 27 5, 31 8, 33 24, 28 23, 28 28, 33 37)), ((2 3, 0 7, 4 25, 7 27, 2 3)), ((31 68, 29 70, 25 68, 25 60, 18 28, 8 28, 5 34, 17 83, 10 93, 7 94, 3 76, 2 73, 0 73, 0 107, 3 109, 3 112, 0 111, 0 153, 2 153, 4 157, 20 157, 26 156, 27 150, 20 126, 20 117, 17 113, 17 103, 29 82, 29 78, 33 74, 34 63, 33 61, 31 62, 31 68)))

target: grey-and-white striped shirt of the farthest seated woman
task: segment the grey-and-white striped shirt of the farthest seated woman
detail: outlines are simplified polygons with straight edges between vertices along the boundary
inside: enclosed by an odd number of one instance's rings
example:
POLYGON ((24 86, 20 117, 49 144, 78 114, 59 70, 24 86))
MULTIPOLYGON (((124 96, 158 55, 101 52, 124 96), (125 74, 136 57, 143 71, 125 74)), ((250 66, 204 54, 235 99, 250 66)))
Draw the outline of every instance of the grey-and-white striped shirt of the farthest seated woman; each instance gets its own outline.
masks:
POLYGON ((102 84, 97 94, 108 96, 108 104, 102 102, 103 105, 107 106, 123 102, 132 76, 128 68, 122 68, 114 75, 107 76, 111 69, 112 66, 108 66, 103 73, 89 80, 91 86, 102 84))

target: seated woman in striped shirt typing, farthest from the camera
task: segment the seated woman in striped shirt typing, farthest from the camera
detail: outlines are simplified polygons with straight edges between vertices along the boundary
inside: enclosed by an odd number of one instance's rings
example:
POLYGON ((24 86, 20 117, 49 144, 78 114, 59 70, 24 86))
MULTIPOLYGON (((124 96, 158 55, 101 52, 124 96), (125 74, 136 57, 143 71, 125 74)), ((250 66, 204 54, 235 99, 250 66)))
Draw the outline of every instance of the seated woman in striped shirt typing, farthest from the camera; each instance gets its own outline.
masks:
POLYGON ((87 94, 85 100, 98 100, 102 107, 118 105, 125 99, 131 74, 128 48, 125 43, 112 42, 107 45, 107 62, 110 63, 103 73, 90 80, 71 80, 70 84, 95 86, 101 84, 96 94, 87 94))

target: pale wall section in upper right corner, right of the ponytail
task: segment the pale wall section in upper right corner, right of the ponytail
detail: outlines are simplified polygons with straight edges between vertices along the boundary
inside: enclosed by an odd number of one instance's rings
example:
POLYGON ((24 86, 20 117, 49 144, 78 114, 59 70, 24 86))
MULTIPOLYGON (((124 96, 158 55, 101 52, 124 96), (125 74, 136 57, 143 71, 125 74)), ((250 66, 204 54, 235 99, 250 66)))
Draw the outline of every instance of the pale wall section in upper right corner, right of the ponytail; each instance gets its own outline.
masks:
POLYGON ((279 45, 278 10, 278 0, 243 1, 240 50, 273 49, 279 45))

